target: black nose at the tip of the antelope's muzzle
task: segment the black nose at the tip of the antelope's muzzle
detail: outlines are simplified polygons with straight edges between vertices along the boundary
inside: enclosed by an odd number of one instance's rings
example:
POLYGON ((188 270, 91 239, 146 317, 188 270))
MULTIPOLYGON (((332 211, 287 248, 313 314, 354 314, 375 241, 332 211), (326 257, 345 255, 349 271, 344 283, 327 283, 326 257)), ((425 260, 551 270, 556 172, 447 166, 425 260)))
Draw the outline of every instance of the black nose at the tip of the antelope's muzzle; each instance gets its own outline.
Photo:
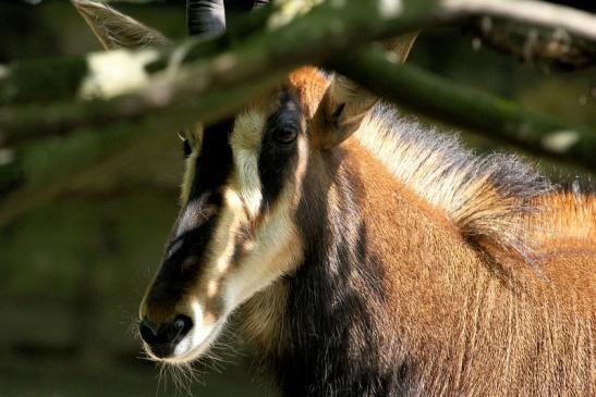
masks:
POLYGON ((184 314, 178 314, 174 321, 156 326, 147 318, 138 323, 141 338, 151 348, 151 351, 158 357, 170 356, 175 345, 193 327, 191 318, 184 314))

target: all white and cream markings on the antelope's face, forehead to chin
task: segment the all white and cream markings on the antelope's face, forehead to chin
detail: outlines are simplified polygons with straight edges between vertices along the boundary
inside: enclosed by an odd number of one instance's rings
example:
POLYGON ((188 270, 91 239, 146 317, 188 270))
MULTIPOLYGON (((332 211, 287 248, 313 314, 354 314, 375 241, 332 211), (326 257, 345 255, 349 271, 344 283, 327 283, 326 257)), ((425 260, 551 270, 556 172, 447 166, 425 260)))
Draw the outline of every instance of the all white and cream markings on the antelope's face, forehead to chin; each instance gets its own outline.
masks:
MULTIPOLYGON (((207 250, 207 263, 200 288, 205 299, 221 299, 222 312, 215 322, 203 309, 204 302, 191 303, 195 326, 177 346, 172 359, 187 362, 200 356, 216 339, 226 319, 235 308, 257 291, 266 288, 280 275, 292 271, 302 260, 302 240, 296 228, 294 211, 300 199, 300 186, 307 165, 306 138, 299 137, 299 162, 295 181, 288 181, 272 210, 263 214, 252 238, 243 241, 239 263, 233 263, 236 236, 241 227, 258 215, 263 201, 258 158, 266 117, 263 113, 246 112, 238 116, 230 138, 234 157, 234 175, 224 193, 224 206, 207 250)), ((195 152, 193 152, 195 154, 195 152)), ((193 162, 196 160, 193 156, 193 162)), ((192 182, 194 164, 188 164, 185 184, 192 182)), ((202 299, 202 298, 199 298, 202 299)))

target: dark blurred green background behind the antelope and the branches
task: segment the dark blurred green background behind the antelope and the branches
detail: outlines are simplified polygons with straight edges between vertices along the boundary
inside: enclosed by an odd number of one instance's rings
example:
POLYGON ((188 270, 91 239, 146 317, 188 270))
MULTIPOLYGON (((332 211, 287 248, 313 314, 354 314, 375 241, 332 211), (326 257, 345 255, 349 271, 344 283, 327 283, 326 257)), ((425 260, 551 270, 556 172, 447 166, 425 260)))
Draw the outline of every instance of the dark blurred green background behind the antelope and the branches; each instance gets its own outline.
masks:
MULTIPOLYGON (((596 8, 589 2, 567 3, 596 8)), ((118 8, 169 37, 184 36, 182 1, 118 8)), ((45 0, 35 7, 0 2, 0 63, 92 50, 99 46, 68 1, 45 0)), ((570 125, 595 129, 594 69, 570 73, 520 64, 485 48, 473 49, 472 38, 452 28, 425 32, 409 62, 570 125)), ((433 123, 422 116, 421 121, 433 123)), ((442 128, 452 132, 450 126, 442 128)), ((481 152, 503 149, 467 132, 462 136, 481 152)), ((0 228, 2 396, 175 393, 169 375, 158 388, 159 369, 141 359, 134 323, 178 211, 182 152, 172 134, 159 147, 139 153, 0 228)), ((582 174, 544 160, 538 166, 563 182, 582 174)), ((267 377, 248 371, 250 348, 233 337, 224 344, 228 348, 219 349, 219 356, 226 362, 196 365, 202 374, 193 383, 194 394, 270 394, 267 377)))

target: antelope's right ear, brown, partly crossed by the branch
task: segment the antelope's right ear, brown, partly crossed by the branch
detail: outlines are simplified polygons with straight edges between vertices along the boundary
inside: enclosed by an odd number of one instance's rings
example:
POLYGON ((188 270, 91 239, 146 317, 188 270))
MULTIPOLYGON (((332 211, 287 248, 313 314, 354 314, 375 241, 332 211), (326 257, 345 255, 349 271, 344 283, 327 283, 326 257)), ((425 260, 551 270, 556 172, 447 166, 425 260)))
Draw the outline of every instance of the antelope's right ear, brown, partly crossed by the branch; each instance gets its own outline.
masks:
MULTIPOLYGON (((384 42, 384 47, 404 62, 417 33, 384 42)), ((335 74, 315 114, 316 145, 330 148, 354 134, 379 98, 354 82, 335 74)))

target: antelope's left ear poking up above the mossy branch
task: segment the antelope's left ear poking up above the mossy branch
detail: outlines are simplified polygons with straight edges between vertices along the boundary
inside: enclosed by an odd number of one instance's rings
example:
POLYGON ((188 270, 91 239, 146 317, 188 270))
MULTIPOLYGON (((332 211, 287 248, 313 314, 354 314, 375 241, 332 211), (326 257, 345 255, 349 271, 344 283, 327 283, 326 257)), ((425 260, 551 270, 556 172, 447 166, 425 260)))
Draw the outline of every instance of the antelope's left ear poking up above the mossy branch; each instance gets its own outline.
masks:
POLYGON ((90 0, 71 2, 107 50, 147 47, 168 41, 158 30, 104 3, 90 0))

